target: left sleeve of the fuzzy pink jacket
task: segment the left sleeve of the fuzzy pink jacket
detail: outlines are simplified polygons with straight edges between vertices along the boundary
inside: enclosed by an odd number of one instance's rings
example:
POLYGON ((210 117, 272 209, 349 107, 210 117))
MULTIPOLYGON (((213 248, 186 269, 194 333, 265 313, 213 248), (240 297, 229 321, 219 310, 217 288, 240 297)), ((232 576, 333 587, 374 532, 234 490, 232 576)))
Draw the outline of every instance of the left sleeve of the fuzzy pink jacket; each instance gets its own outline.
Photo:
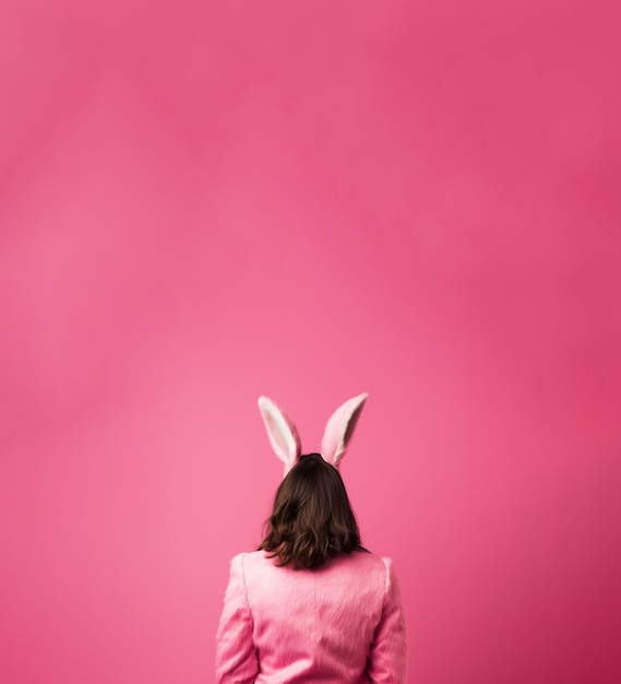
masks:
POLYGON ((259 673, 252 615, 243 579, 243 554, 230 562, 228 587, 216 635, 216 684, 250 684, 259 673))

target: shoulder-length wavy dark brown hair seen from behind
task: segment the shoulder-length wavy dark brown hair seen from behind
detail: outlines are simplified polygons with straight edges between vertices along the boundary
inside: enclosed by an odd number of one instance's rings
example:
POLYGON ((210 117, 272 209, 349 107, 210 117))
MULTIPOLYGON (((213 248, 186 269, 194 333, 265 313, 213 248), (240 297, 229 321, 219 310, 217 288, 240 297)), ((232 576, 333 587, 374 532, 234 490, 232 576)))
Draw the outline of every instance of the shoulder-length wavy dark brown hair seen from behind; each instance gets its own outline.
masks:
POLYGON ((360 546, 360 532, 343 480, 319 453, 308 453, 289 471, 274 499, 259 546, 278 565, 318 567, 360 546))

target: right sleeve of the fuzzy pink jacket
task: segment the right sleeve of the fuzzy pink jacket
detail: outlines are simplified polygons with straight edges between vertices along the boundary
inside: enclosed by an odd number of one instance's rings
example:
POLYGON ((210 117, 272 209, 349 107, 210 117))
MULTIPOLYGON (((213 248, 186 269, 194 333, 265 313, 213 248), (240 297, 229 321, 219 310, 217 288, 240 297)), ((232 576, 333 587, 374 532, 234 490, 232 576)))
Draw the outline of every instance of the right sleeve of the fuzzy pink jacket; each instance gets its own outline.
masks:
POLYGON ((392 561, 384 558, 384 564, 386 567, 384 608, 373 634, 367 675, 373 684, 406 684, 407 630, 401 590, 392 561))

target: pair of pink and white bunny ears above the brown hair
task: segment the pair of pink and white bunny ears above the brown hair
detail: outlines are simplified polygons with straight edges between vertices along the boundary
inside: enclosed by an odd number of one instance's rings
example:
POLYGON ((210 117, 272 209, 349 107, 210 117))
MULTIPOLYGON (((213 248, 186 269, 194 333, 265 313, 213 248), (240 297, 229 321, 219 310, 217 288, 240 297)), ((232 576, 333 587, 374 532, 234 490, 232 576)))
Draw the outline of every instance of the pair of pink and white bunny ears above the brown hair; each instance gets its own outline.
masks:
MULTIPOLYGON (((332 414, 321 443, 321 456, 334 468, 338 468, 356 423, 369 394, 349 399, 332 414)), ((294 421, 267 397, 259 398, 259 410, 267 428, 267 436, 276 456, 285 463, 285 475, 299 461, 302 447, 294 421)))

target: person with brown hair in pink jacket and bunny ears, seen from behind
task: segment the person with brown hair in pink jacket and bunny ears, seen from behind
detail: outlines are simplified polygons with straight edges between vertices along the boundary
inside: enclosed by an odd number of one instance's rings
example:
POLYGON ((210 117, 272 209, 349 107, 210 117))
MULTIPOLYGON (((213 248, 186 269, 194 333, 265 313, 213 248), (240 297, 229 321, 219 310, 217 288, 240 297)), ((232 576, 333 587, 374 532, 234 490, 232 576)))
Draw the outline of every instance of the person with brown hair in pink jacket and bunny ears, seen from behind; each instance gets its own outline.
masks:
POLYGON ((216 684, 405 684, 406 626, 393 565, 360 546, 337 471, 366 399, 343 404, 321 455, 306 456, 294 422, 259 400, 285 479, 259 551, 231 561, 216 684))

